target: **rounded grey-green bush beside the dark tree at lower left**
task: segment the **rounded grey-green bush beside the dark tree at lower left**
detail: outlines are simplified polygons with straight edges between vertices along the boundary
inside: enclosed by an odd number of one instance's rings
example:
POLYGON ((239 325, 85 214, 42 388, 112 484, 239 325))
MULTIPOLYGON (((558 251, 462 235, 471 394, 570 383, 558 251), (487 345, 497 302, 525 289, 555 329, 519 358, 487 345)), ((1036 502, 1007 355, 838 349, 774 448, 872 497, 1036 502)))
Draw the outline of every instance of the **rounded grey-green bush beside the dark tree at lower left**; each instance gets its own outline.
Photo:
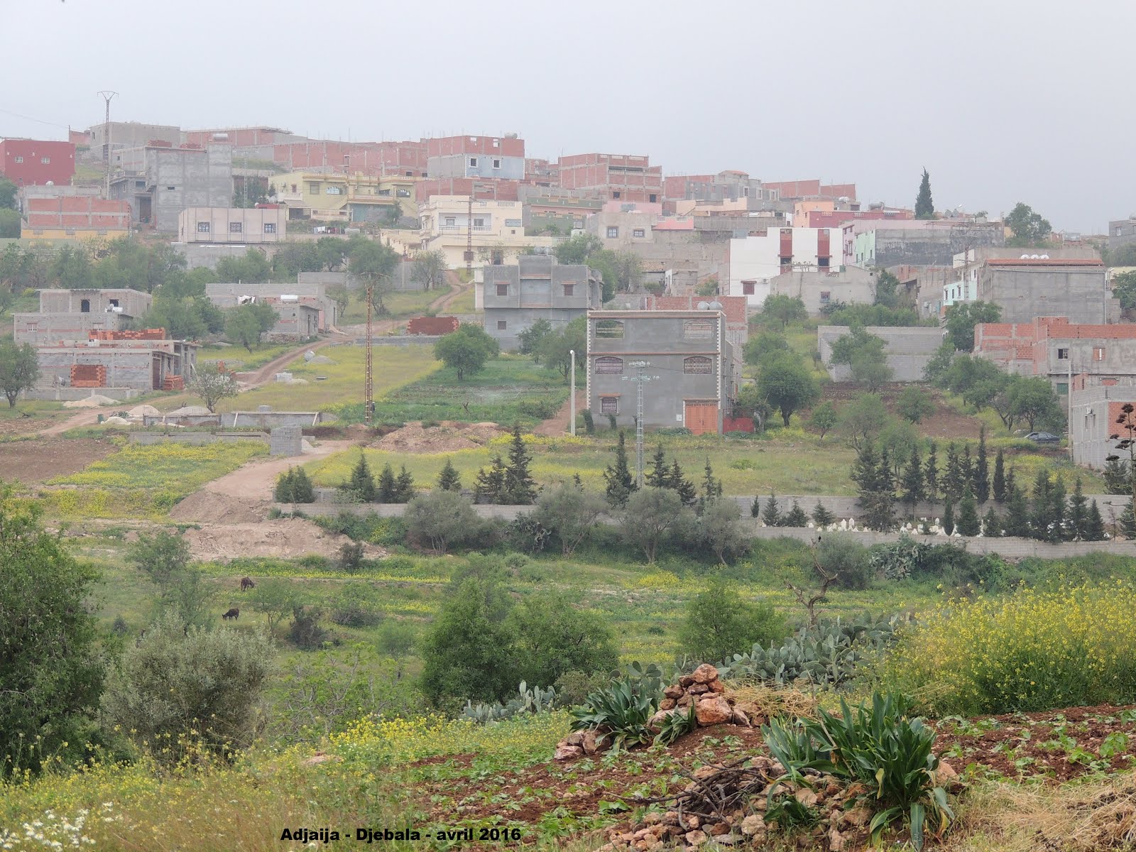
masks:
POLYGON ((185 757, 193 734, 217 754, 249 745, 258 729, 260 694, 272 648, 257 633, 184 628, 177 618, 152 625, 107 682, 102 711, 154 759, 185 757), (168 751, 167 751, 168 749, 168 751))

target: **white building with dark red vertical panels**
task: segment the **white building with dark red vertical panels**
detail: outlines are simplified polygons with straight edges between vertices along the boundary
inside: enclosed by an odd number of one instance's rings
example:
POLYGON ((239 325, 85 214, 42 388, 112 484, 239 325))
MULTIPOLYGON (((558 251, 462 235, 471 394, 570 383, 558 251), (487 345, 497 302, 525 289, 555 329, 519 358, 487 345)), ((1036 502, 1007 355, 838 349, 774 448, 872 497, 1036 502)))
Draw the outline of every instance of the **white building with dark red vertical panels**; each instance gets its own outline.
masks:
POLYGON ((772 292, 769 281, 799 269, 841 266, 838 235, 829 228, 769 228, 729 241, 729 295, 760 306, 772 292))

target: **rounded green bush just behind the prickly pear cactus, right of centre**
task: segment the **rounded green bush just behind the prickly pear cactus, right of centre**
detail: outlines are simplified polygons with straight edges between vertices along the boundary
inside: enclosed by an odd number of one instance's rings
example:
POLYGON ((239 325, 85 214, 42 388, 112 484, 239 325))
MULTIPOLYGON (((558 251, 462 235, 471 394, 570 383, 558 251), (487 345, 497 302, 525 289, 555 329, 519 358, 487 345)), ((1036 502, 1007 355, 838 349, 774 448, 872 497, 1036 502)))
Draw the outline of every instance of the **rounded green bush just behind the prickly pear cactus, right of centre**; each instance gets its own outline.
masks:
POLYGON ((749 603, 735 586, 716 578, 687 605, 678 641, 691 658, 715 662, 755 644, 780 642, 787 633, 785 617, 772 604, 749 603))

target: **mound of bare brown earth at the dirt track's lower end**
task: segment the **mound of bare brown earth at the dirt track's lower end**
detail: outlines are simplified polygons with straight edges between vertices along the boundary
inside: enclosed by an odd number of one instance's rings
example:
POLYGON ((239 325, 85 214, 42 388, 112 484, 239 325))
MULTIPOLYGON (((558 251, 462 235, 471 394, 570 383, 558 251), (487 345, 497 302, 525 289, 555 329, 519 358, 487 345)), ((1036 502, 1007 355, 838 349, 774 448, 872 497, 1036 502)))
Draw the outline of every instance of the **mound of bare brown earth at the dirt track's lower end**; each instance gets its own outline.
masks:
MULTIPOLYGON (((206 524, 200 529, 186 529, 185 540, 194 559, 211 560, 235 557, 295 559, 310 554, 331 558, 351 542, 345 535, 334 535, 302 518, 277 518, 253 524, 206 524)), ((365 544, 364 556, 374 559, 386 556, 386 551, 365 544)))

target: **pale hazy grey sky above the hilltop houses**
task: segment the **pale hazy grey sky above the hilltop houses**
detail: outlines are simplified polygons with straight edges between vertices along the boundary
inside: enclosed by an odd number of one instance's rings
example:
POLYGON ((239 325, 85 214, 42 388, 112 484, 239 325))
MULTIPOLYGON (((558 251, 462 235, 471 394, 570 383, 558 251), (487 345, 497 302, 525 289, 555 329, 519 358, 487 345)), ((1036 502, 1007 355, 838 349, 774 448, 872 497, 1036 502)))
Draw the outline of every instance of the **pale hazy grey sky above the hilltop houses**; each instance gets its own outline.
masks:
POLYGON ((110 89, 123 120, 516 132, 864 202, 913 204, 926 166, 937 209, 1102 232, 1136 211, 1134 25, 1130 0, 0 0, 0 135, 65 137, 110 89))

